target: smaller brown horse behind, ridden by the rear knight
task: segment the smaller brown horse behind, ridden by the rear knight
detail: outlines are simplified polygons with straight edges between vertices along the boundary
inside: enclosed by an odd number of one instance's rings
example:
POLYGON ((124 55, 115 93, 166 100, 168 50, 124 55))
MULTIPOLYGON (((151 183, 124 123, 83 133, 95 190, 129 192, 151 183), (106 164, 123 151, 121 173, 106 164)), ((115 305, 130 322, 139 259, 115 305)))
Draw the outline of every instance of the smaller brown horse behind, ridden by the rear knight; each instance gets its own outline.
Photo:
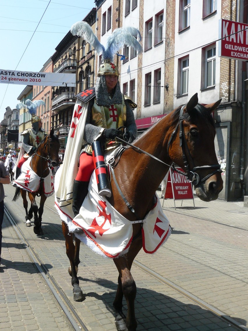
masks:
POLYGON ((42 235, 43 230, 41 229, 41 222, 42 222, 42 214, 44 210, 44 204, 47 199, 44 193, 44 185, 43 181, 44 178, 47 177, 50 173, 50 165, 55 167, 59 164, 59 134, 60 132, 57 131, 57 134, 54 134, 54 130, 50 131, 50 134, 47 135, 40 145, 37 148, 37 151, 34 155, 31 156, 31 168, 33 171, 40 177, 40 185, 38 191, 30 192, 25 189, 21 189, 20 187, 16 188, 16 192, 13 198, 13 201, 16 201, 20 195, 23 200, 23 207, 26 212, 26 226, 31 226, 31 218, 34 214, 34 233, 37 235, 42 235), (26 198, 26 193, 28 192, 28 197, 31 202, 31 207, 28 209, 28 202, 26 198), (35 197, 40 195, 40 207, 37 206, 35 197))

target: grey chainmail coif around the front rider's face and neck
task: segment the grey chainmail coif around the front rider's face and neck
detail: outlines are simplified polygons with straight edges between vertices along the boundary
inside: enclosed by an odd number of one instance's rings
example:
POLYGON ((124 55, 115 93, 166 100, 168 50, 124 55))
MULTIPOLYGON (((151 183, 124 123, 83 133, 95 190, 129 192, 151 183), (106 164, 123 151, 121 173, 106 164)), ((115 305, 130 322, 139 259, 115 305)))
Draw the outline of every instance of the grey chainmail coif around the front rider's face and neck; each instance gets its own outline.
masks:
POLYGON ((120 83, 117 80, 117 84, 114 89, 114 93, 111 96, 112 100, 108 96, 107 85, 105 76, 97 77, 96 81, 96 101, 98 106, 111 106, 114 104, 122 103, 122 93, 120 88, 120 83))

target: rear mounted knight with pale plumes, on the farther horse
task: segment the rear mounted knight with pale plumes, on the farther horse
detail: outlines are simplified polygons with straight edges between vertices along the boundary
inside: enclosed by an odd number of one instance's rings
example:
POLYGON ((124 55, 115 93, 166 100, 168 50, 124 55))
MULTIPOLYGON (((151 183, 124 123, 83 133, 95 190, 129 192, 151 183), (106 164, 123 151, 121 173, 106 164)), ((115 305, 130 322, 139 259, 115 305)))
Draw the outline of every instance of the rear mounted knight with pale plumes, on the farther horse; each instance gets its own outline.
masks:
POLYGON ((17 179, 21 173, 21 166, 26 161, 26 159, 33 155, 41 141, 47 135, 45 130, 42 128, 42 120, 36 115, 37 108, 41 105, 45 105, 43 100, 31 101, 27 99, 25 104, 20 102, 17 104, 16 108, 20 110, 21 108, 26 108, 29 114, 32 115, 31 124, 32 128, 24 130, 21 135, 23 136, 23 141, 21 145, 20 158, 18 158, 18 164, 16 167, 15 178, 17 179))

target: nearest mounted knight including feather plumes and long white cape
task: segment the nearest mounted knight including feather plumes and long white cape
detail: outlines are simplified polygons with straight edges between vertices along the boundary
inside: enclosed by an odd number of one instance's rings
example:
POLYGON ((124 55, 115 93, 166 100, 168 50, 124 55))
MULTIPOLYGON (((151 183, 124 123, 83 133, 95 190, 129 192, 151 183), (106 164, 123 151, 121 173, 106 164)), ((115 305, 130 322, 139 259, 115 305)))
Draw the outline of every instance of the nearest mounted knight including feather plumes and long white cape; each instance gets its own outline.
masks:
POLYGON ((94 171, 93 142, 101 141, 105 149, 117 147, 113 140, 120 136, 120 130, 117 129, 121 126, 127 128, 121 132, 125 140, 132 142, 136 138, 137 127, 132 109, 137 105, 121 93, 119 71, 113 61, 114 55, 124 44, 128 43, 137 53, 142 51, 142 46, 136 38, 141 39, 140 32, 133 27, 115 29, 108 37, 106 48, 86 22, 73 24, 71 33, 82 37, 96 53, 102 54, 95 87, 89 87, 76 95, 63 165, 57 182, 55 178, 58 209, 66 209, 61 215, 73 218, 73 214, 74 217, 79 214, 94 171))

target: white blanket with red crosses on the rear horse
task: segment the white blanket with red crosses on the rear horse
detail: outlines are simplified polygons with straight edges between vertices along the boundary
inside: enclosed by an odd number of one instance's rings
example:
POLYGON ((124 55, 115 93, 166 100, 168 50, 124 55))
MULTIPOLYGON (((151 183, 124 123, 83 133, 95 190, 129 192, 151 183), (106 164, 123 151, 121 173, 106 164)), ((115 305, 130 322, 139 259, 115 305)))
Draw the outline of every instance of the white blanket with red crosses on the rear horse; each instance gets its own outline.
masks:
MULTIPOLYGON (((15 179, 14 183, 18 187, 36 193, 40 187, 41 180, 40 177, 31 169, 30 162, 32 158, 28 158, 21 166, 21 174, 15 179)), ((42 182, 44 193, 46 197, 50 197, 54 192, 54 177, 52 170, 49 168, 49 174, 44 178, 42 182)))

